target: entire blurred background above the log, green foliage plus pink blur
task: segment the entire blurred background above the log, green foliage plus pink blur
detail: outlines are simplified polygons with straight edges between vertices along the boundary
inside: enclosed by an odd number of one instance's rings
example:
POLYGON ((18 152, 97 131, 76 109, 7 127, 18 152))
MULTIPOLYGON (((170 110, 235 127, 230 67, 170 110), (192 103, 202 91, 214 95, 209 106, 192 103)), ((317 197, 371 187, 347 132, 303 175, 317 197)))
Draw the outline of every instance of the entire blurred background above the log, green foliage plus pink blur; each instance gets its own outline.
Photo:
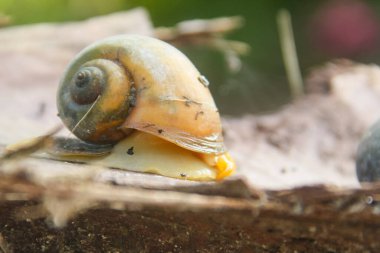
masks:
POLYGON ((291 101, 276 25, 282 8, 292 16, 304 76, 334 58, 380 63, 376 0, 0 0, 0 13, 11 17, 11 25, 21 25, 83 20, 139 6, 148 10, 156 27, 197 18, 245 18, 245 26, 228 35, 251 46, 237 73, 228 71, 220 52, 181 48, 211 81, 223 114, 265 112, 291 101))

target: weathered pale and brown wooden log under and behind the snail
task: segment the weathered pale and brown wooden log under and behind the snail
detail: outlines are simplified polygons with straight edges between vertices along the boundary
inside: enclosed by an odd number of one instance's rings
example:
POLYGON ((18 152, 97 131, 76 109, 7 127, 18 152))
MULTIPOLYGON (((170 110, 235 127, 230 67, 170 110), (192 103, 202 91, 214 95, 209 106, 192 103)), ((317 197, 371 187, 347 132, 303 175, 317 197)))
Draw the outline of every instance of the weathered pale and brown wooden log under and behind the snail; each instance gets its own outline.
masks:
MULTIPOLYGON (((1 148, 59 124, 54 94, 67 62, 92 41, 127 32, 153 35, 144 10, 1 29, 1 148)), ((224 182, 1 161, 0 251, 377 252, 380 186, 358 184, 354 156, 380 116, 380 71, 343 65, 318 70, 322 78, 309 80, 317 88, 278 112, 225 118, 239 168, 224 182)))

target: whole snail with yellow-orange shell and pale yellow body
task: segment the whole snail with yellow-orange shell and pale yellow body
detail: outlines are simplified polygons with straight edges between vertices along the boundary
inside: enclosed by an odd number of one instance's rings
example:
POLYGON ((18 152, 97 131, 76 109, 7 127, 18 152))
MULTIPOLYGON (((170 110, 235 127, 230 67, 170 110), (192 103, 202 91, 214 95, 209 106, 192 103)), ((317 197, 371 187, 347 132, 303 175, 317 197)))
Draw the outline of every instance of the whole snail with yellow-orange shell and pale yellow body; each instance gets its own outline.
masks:
POLYGON ((235 170, 208 81, 178 49, 155 38, 95 42, 69 64, 58 116, 80 140, 57 139, 59 159, 191 180, 235 170))

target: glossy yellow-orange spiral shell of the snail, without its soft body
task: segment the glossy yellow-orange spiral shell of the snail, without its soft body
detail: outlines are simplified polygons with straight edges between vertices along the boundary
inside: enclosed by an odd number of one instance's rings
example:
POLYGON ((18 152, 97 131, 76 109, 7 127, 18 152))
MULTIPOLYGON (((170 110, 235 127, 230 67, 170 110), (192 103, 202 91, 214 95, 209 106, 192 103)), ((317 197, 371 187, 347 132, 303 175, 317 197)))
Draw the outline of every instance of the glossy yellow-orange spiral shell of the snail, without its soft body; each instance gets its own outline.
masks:
POLYGON ((57 104, 64 124, 89 143, 116 143, 139 130, 195 152, 225 152, 207 80, 154 38, 121 35, 85 48, 65 71, 57 104))

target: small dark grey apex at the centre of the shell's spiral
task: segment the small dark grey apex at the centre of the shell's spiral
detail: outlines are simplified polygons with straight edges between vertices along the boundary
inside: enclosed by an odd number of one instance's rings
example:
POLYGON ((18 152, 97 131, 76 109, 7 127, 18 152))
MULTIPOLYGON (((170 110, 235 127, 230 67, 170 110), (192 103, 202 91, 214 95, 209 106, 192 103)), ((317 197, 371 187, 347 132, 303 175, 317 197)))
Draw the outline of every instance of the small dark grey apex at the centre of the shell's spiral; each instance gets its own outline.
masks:
POLYGON ((99 97, 105 85, 105 74, 96 67, 80 69, 73 77, 70 87, 72 99, 80 105, 91 104, 99 97))

